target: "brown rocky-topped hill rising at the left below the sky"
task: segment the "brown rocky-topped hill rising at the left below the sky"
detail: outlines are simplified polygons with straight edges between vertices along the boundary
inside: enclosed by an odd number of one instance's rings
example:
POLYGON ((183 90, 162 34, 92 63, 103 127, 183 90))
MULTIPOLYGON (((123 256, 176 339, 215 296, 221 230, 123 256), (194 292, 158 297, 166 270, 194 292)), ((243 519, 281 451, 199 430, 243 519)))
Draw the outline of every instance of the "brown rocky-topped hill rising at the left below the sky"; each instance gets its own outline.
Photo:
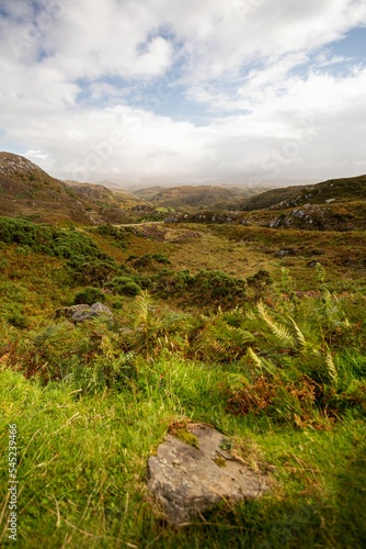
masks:
POLYGON ((124 223, 146 202, 103 186, 60 181, 26 158, 0 153, 0 215, 50 223, 124 223))

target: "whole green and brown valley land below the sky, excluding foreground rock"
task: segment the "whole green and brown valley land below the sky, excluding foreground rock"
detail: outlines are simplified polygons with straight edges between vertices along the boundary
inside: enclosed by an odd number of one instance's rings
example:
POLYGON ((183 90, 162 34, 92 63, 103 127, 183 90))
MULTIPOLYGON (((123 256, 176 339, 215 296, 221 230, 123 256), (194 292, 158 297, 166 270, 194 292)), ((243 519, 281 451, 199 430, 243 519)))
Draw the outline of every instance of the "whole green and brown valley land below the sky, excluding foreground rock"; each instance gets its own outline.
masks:
POLYGON ((363 546, 365 191, 359 176, 131 193, 0 154, 0 417, 2 439, 19 432, 20 547, 363 546), (111 314, 66 314, 95 302, 111 314), (175 527, 147 461, 195 423, 271 490, 175 527))

